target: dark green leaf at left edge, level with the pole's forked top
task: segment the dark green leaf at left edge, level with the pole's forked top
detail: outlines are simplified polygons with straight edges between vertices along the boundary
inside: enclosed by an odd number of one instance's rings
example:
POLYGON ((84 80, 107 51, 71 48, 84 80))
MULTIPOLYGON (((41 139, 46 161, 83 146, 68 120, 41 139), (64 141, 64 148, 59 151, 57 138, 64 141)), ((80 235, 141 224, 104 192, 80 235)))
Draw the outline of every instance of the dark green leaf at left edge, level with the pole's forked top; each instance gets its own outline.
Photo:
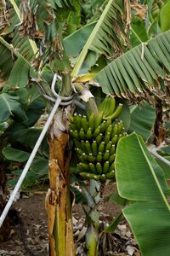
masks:
POLYGON ((0 94, 0 109, 0 122, 4 122, 9 117, 20 122, 24 122, 27 119, 17 96, 10 96, 7 93, 0 94))

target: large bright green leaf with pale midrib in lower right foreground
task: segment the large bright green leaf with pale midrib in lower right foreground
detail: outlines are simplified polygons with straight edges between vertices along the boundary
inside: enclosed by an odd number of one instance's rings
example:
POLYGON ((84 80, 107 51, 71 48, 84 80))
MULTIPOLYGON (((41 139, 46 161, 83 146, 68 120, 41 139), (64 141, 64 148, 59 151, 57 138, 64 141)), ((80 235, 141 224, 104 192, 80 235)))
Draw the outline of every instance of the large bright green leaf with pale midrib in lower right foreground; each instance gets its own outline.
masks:
POLYGON ((169 189, 161 167, 143 139, 132 134, 122 138, 116 151, 119 194, 133 201, 122 212, 144 256, 168 256, 170 252, 169 189))

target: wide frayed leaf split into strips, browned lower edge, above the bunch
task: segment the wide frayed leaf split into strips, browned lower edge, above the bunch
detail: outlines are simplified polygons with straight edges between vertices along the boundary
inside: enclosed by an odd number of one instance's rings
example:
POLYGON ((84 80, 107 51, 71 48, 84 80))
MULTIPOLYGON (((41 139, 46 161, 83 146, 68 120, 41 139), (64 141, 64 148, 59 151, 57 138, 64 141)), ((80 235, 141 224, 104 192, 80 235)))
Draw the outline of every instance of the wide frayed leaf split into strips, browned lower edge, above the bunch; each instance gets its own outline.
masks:
POLYGON ((169 44, 170 31, 127 51, 97 73, 94 81, 105 93, 126 98, 161 91, 160 80, 168 78, 170 71, 169 44))

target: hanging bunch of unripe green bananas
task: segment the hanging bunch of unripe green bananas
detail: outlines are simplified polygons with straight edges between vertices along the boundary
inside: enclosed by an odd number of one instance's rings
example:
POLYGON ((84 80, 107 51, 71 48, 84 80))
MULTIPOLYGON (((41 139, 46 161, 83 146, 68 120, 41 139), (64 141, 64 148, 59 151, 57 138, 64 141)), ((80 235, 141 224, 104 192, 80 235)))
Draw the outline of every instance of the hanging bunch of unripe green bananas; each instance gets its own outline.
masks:
POLYGON ((107 96, 99 106, 97 117, 74 113, 71 116, 71 137, 76 144, 77 168, 83 179, 104 182, 115 178, 116 144, 126 136, 122 121, 116 118, 122 111, 122 104, 115 109, 114 98, 107 96))

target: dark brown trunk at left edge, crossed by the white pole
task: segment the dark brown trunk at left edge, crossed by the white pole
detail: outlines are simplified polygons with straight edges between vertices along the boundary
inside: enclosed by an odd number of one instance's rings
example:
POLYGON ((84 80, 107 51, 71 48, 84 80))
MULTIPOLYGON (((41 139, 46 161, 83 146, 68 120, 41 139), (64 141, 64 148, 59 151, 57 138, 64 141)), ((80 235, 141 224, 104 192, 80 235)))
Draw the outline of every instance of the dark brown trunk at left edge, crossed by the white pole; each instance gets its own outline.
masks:
MULTIPOLYGON (((6 187, 6 175, 3 166, 0 166, 0 215, 6 205, 7 187, 6 187)), ((2 227, 0 228, 0 241, 7 241, 10 235, 10 224, 8 217, 5 218, 2 227)))

